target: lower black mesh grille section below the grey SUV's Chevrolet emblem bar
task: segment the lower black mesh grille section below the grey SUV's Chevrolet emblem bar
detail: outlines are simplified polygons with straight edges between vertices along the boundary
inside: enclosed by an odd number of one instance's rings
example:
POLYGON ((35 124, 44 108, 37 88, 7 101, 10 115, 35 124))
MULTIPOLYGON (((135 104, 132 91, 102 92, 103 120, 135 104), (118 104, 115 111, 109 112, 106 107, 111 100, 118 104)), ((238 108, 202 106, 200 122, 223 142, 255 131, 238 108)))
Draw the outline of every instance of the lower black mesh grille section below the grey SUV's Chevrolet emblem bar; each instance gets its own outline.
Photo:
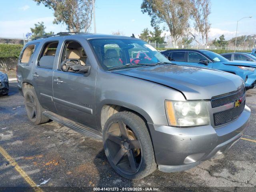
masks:
POLYGON ((228 123, 236 118, 243 112, 245 102, 243 102, 239 107, 228 109, 226 111, 218 112, 213 114, 214 125, 222 125, 228 123))

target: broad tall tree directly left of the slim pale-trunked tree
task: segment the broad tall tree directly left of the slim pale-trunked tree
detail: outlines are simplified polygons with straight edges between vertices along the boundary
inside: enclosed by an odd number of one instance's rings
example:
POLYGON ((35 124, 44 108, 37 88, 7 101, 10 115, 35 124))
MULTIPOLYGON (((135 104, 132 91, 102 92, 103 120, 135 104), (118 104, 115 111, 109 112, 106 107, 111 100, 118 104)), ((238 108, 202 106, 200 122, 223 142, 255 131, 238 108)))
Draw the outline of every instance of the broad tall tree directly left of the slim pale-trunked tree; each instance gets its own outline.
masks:
POLYGON ((166 23, 172 37, 172 44, 184 34, 191 12, 189 0, 143 0, 141 9, 151 17, 151 25, 166 23))

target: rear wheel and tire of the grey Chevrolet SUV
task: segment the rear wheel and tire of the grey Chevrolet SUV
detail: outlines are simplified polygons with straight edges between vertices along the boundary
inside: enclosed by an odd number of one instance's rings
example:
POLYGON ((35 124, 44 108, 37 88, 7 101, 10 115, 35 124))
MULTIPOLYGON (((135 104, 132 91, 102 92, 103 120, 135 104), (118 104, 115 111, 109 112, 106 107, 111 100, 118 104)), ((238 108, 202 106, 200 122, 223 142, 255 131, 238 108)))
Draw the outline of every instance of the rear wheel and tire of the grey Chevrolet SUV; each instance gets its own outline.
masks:
POLYGON ((38 125, 49 121, 49 118, 43 115, 44 108, 40 105, 33 87, 24 90, 24 103, 28 119, 34 124, 38 125))

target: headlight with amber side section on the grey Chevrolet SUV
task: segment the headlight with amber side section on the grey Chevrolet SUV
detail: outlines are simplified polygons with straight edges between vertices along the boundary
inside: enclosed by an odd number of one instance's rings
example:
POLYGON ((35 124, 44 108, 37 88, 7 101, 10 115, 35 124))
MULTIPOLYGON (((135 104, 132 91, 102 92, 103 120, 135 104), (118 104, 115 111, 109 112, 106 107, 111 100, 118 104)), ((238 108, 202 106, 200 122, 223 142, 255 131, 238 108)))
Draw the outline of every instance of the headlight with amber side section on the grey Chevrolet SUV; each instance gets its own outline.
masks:
POLYGON ((165 101, 170 126, 188 127, 209 125, 210 116, 206 101, 165 101))

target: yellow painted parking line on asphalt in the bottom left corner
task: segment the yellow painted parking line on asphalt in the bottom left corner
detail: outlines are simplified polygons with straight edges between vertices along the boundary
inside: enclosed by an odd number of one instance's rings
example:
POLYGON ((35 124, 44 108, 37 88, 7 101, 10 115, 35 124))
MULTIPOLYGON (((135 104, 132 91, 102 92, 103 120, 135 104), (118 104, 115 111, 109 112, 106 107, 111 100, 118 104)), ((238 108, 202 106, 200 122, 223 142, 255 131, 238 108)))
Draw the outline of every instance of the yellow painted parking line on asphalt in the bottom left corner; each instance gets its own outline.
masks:
POLYGON ((22 170, 22 168, 20 168, 20 166, 16 163, 16 161, 6 152, 6 150, 4 150, 4 148, 2 148, 0 146, 0 153, 2 154, 2 156, 4 156, 4 158, 6 158, 6 160, 12 165, 14 166, 14 168, 16 169, 16 171, 19 172, 19 174, 24 178, 24 180, 34 189, 34 191, 36 192, 43 192, 43 190, 38 187, 36 185, 36 183, 28 176, 28 174, 26 174, 26 172, 24 170, 22 170))

